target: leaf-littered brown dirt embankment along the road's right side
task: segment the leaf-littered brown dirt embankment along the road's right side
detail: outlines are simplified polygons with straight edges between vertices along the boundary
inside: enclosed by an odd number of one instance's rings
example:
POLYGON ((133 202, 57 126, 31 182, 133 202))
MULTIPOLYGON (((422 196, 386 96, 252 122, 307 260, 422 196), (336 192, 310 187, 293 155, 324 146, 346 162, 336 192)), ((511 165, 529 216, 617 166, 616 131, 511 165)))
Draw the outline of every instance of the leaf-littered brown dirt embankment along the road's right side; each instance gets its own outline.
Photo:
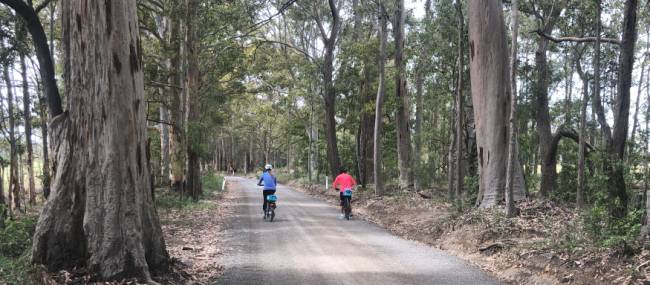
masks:
MULTIPOLYGON (((322 186, 292 186, 331 203, 338 201, 336 193, 325 193, 322 186)), ((353 208, 363 219, 452 252, 507 283, 650 284, 650 252, 629 256, 580 244, 575 237, 580 219, 569 209, 550 202, 522 202, 517 205, 520 215, 506 219, 500 208, 459 215, 442 201, 408 191, 380 197, 357 191, 353 208)))

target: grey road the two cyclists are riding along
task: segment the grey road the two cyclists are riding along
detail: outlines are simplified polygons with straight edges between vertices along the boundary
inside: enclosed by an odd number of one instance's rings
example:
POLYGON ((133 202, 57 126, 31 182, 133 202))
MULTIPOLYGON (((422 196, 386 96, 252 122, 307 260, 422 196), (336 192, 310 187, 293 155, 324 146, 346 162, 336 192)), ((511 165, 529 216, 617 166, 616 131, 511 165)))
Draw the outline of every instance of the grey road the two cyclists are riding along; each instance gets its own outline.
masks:
POLYGON ((499 284, 462 260, 407 241, 280 186, 276 219, 262 219, 261 189, 229 177, 234 215, 217 284, 499 284))

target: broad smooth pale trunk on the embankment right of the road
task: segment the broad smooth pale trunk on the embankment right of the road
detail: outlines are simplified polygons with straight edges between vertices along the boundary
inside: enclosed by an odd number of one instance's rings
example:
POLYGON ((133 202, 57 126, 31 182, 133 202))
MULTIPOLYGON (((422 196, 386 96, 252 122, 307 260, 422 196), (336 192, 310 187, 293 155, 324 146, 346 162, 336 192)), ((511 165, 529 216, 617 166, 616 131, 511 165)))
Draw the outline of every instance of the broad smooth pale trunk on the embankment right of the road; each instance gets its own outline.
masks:
MULTIPOLYGON (((508 155, 508 54, 501 2, 470 1, 470 73, 479 159, 477 204, 492 207, 503 199, 508 155)), ((524 198, 524 179, 517 161, 513 198, 524 198)))

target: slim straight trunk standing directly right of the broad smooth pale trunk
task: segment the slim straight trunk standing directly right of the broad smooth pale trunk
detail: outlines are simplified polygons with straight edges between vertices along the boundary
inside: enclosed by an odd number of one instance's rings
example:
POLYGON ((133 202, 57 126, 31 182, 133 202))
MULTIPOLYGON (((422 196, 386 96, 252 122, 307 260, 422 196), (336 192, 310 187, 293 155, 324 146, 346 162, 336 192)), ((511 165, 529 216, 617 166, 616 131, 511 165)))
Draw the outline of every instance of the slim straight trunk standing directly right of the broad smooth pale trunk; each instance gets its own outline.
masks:
POLYGON ((516 215, 513 199, 514 165, 519 162, 517 155, 517 36, 519 33, 519 8, 517 0, 512 0, 510 8, 512 41, 510 44, 510 132, 508 134, 508 162, 506 168, 506 217, 516 215))

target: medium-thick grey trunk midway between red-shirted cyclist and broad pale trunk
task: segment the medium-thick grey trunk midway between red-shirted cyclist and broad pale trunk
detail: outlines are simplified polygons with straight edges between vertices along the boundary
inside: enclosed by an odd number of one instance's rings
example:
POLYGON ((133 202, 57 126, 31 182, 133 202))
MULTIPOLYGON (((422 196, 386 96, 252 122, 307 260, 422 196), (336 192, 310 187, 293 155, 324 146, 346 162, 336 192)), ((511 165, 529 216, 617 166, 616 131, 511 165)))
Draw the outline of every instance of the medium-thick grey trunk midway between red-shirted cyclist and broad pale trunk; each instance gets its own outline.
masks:
POLYGON ((404 70, 404 0, 396 0, 397 10, 393 21, 395 37, 395 97, 397 110, 395 112, 395 128, 397 129, 397 161, 399 169, 399 186, 407 188, 413 185, 411 167, 411 133, 409 131, 408 110, 410 102, 406 90, 406 72, 404 70))

